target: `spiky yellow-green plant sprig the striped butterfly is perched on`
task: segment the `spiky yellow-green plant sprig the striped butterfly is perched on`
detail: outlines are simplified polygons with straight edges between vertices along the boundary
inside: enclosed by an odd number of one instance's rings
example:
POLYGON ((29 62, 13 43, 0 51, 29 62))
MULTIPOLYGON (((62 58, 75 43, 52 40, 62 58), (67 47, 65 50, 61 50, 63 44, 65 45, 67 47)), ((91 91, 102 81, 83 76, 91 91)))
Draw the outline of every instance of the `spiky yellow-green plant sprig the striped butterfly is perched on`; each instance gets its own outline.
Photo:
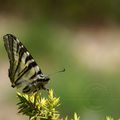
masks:
MULTIPOLYGON (((42 97, 40 92, 27 95, 17 92, 18 113, 26 115, 29 120, 64 120, 60 118, 57 107, 60 105, 60 98, 54 97, 53 90, 48 92, 47 98, 42 97)), ((68 120, 68 117, 65 118, 68 120)), ((74 113, 71 120, 80 120, 80 117, 74 113)))

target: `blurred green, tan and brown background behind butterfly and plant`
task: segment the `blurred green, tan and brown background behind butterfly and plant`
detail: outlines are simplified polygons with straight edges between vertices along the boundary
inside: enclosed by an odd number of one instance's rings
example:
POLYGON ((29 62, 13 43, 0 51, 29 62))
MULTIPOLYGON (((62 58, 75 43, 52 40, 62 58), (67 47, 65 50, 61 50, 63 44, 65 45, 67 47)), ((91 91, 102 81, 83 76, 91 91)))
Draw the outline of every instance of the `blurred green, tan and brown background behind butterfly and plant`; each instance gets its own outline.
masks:
POLYGON ((0 0, 0 119, 17 114, 2 36, 16 35, 43 73, 66 68, 47 85, 60 96, 62 117, 120 117, 119 0, 0 0))

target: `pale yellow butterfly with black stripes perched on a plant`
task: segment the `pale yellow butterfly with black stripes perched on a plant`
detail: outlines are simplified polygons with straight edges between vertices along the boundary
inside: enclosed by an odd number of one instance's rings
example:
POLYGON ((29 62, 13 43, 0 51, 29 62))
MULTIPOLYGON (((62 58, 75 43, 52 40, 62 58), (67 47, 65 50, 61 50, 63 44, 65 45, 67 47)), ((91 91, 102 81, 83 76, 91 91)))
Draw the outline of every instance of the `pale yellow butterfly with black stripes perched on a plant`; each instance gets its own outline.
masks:
POLYGON ((45 85, 50 78, 44 75, 26 47, 12 34, 3 36, 10 67, 8 76, 11 86, 22 87, 22 92, 29 94, 38 90, 48 90, 45 85))

